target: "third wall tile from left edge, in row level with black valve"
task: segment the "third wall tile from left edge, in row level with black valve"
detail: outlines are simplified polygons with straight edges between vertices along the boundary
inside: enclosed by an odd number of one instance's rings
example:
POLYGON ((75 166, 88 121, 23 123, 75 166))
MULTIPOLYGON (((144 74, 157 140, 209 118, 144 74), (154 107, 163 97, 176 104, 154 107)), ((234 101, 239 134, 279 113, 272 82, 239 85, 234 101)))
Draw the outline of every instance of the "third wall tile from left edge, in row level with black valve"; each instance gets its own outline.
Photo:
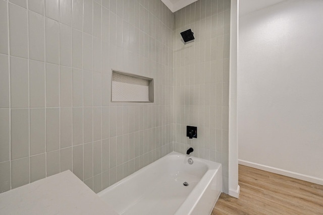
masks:
POLYGON ((30 155, 45 152, 45 108, 30 109, 30 155))

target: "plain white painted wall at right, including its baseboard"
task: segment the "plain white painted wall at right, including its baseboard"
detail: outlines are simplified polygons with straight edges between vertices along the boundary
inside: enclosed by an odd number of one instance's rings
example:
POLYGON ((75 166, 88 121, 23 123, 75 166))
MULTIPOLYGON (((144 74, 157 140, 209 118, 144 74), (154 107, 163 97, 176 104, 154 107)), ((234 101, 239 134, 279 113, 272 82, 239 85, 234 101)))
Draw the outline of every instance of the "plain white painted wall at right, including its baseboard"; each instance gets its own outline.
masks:
MULTIPOLYGON (((240 1, 243 4, 243 1, 240 1)), ((323 1, 239 18, 239 161, 323 184, 323 1)))

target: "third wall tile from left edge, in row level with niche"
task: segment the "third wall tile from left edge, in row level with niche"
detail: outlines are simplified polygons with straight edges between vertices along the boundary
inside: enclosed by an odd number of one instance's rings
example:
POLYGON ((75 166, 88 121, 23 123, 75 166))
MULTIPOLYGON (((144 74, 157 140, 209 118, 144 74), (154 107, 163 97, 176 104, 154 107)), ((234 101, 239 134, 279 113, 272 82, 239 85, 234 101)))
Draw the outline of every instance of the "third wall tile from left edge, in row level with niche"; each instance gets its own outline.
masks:
POLYGON ((45 107, 45 63, 29 60, 30 107, 45 107))

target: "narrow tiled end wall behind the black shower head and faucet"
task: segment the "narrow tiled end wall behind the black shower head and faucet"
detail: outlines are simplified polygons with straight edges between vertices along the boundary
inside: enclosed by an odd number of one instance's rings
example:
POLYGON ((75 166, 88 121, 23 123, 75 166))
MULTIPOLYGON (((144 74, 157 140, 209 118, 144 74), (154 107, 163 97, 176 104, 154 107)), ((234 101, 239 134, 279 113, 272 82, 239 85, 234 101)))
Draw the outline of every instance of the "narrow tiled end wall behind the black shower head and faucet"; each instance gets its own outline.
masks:
POLYGON ((174 151, 222 163, 228 193, 230 0, 199 0, 174 14, 174 151), (180 32, 194 32, 183 44, 180 32), (186 137, 197 126, 197 138, 186 137))

